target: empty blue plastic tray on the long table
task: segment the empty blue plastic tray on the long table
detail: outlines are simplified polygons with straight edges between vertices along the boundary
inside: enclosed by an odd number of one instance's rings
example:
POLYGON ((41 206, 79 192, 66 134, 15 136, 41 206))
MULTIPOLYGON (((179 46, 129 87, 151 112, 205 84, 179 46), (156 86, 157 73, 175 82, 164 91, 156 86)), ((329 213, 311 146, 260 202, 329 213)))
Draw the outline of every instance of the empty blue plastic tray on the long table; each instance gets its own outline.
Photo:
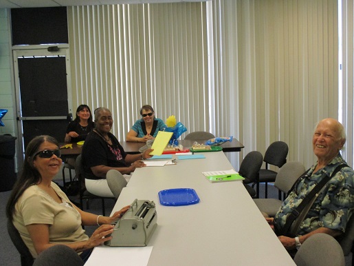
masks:
POLYGON ((159 203, 166 206, 182 206, 199 203, 197 192, 192 188, 173 188, 159 192, 159 203))

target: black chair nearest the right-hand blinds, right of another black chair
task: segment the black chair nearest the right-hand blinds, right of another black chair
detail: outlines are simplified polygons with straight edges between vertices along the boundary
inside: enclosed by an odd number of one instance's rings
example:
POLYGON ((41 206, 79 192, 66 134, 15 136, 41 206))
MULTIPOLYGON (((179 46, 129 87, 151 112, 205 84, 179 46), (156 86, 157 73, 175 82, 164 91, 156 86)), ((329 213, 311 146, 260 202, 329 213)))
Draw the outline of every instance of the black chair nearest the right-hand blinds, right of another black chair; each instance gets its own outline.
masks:
POLYGON ((265 198, 268 197, 268 183, 276 181, 277 172, 269 170, 269 165, 275 165, 279 168, 282 167, 287 162, 287 153, 289 152, 289 147, 287 143, 283 141, 275 141, 267 148, 263 161, 265 162, 265 169, 259 170, 258 181, 254 182, 254 185, 259 183, 265 183, 265 198))

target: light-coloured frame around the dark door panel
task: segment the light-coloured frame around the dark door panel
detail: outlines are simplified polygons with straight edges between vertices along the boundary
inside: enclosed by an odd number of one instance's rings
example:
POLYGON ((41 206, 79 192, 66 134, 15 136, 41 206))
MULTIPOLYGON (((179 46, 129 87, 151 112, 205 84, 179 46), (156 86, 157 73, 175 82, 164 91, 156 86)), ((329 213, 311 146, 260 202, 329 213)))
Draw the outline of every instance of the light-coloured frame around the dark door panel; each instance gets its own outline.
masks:
MULTIPOLYGON (((12 60, 14 68, 14 86, 16 97, 16 120, 17 120, 17 136, 18 145, 17 155, 17 169, 19 172, 22 170, 24 159, 24 141, 23 141, 23 127, 21 119, 21 99, 20 99, 20 84, 19 84, 19 62, 18 58, 23 57, 65 57, 66 73, 67 73, 67 104, 68 114, 72 113, 72 91, 71 91, 71 71, 70 71, 70 52, 68 44, 51 44, 51 45, 19 45, 12 46, 12 60), (59 49, 56 52, 49 52, 48 48, 57 46, 59 49)), ((63 119, 61 116, 53 116, 51 119, 63 119)))

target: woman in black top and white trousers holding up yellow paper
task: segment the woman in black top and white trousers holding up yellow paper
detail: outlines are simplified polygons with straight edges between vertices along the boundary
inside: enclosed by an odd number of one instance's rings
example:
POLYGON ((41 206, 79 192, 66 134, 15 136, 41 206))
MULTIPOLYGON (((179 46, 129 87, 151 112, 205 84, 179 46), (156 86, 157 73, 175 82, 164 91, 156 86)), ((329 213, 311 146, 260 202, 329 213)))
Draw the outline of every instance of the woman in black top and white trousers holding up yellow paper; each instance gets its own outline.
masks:
POLYGON ((127 154, 122 145, 110 132, 113 125, 112 113, 107 108, 97 108, 95 128, 87 136, 82 146, 82 167, 85 175, 85 185, 91 194, 103 197, 113 197, 107 183, 106 174, 116 170, 129 181, 129 174, 137 167, 146 166, 144 159, 151 158, 147 149, 142 154, 127 154))

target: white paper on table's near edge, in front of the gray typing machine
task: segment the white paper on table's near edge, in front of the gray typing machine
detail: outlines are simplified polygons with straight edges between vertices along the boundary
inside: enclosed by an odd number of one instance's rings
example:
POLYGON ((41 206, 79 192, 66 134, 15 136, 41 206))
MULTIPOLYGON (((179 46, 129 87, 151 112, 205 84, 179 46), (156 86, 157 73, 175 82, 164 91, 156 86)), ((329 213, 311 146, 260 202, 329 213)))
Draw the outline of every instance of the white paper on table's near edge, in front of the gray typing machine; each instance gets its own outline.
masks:
POLYGON ((146 266, 153 247, 95 247, 85 266, 146 266))

